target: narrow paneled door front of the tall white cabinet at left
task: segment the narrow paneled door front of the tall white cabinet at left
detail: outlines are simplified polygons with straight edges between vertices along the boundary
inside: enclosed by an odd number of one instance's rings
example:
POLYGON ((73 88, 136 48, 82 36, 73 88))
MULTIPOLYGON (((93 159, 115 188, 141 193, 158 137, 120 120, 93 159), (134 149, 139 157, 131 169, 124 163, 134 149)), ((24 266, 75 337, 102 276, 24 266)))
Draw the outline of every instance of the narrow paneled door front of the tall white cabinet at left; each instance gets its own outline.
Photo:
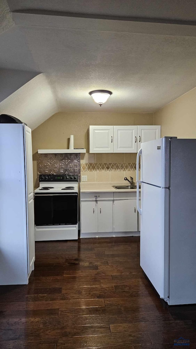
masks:
POLYGON ((26 196, 27 196, 27 215, 28 215, 28 273, 35 260, 35 230, 34 230, 34 201, 33 201, 33 157, 31 129, 25 126, 25 165, 26 165, 26 196))

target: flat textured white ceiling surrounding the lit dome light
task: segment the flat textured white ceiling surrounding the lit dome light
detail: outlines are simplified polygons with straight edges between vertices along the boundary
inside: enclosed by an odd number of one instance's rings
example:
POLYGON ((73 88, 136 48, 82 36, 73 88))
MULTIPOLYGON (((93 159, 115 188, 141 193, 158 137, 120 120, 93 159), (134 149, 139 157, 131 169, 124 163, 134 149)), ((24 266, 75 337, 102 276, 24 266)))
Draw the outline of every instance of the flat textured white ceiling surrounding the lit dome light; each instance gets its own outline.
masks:
MULTIPOLYGON (((154 112, 196 86, 196 1, 8 5, 15 25, 0 35, 0 68, 44 73, 42 94, 50 89, 52 109, 100 111, 88 92, 109 89, 102 111, 154 112)), ((35 124, 45 117, 36 114, 35 124)))

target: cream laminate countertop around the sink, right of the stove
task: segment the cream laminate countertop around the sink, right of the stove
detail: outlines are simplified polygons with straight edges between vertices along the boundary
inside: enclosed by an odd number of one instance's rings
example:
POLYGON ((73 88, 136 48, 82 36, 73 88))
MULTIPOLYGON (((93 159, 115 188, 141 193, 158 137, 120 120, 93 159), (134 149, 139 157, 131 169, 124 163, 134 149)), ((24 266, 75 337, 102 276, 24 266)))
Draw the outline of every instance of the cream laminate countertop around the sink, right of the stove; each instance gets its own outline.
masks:
POLYGON ((80 193, 89 192, 105 192, 105 193, 115 193, 115 192, 136 192, 136 189, 115 189, 113 186, 117 185, 128 185, 128 182, 100 182, 100 183, 80 183, 80 193))

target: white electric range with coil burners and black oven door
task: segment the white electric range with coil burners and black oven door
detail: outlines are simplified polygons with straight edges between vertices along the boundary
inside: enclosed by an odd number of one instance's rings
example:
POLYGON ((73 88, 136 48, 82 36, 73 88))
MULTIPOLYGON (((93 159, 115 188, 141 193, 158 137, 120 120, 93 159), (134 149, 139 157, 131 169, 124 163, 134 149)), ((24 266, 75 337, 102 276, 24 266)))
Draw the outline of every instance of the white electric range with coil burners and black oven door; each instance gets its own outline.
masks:
POLYGON ((78 239, 78 176, 40 175, 34 192, 35 240, 78 239))

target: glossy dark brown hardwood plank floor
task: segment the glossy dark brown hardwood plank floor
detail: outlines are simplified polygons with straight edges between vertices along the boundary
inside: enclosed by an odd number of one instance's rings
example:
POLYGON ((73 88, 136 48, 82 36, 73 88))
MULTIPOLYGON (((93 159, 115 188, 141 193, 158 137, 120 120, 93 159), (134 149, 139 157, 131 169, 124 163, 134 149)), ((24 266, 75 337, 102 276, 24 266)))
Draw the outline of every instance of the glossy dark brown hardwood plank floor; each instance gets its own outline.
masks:
POLYGON ((1 349, 196 348, 196 306, 168 308, 139 265, 139 238, 37 242, 29 285, 0 287, 1 349))

